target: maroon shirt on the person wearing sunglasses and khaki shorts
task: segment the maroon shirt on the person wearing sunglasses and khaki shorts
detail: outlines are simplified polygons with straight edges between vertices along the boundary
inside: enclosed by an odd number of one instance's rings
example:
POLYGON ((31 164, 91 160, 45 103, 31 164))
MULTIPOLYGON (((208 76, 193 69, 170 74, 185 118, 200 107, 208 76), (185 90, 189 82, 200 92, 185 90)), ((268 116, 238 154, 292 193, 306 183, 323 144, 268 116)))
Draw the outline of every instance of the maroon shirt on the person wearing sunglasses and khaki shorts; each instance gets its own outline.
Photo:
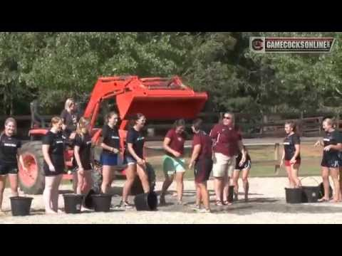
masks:
POLYGON ((224 124, 216 124, 210 132, 214 140, 213 150, 225 156, 237 156, 239 154, 238 142, 242 140, 241 134, 234 127, 224 124))

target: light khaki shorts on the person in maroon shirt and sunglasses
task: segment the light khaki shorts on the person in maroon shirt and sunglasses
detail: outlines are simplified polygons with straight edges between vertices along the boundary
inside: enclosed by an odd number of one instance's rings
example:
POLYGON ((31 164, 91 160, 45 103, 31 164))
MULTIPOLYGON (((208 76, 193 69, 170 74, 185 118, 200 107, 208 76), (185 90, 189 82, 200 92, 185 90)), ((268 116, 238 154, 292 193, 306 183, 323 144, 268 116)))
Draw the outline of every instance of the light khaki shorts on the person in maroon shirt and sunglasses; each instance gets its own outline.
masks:
POLYGON ((235 169, 236 157, 235 156, 225 156, 221 153, 214 153, 212 174, 215 178, 222 178, 224 176, 232 177, 233 171, 235 169))

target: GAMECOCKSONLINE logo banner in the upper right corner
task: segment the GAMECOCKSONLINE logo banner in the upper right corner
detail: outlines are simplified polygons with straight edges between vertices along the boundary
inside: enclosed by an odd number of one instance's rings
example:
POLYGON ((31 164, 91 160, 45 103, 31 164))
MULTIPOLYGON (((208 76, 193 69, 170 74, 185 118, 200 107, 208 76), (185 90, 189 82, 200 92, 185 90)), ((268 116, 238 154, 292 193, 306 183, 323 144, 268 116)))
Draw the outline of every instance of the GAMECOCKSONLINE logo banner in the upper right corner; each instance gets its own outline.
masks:
POLYGON ((254 53, 330 53, 334 38, 249 38, 254 53))

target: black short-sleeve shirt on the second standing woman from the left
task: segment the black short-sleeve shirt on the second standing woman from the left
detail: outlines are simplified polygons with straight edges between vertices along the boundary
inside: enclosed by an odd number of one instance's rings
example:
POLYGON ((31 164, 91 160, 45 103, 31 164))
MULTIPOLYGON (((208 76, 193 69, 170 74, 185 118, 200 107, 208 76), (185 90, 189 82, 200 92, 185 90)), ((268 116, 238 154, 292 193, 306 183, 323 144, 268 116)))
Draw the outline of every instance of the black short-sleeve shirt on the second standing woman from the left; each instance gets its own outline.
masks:
MULTIPOLYGON (((51 131, 43 137, 43 145, 49 145, 48 154, 51 157, 52 164, 54 166, 64 166, 64 143, 65 140, 62 137, 62 133, 58 132, 54 134, 51 131)), ((47 164, 44 161, 44 164, 47 164)))

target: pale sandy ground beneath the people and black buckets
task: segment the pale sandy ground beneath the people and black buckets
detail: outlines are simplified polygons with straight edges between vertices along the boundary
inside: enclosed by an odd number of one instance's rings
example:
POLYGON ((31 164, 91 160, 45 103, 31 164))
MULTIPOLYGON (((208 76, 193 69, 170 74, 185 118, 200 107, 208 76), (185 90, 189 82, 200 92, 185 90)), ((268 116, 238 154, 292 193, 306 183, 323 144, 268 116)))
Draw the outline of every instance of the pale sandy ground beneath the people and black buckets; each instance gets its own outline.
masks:
MULTIPOLYGON (((321 178, 314 177, 321 182, 321 178)), ((232 206, 214 206, 213 182, 209 181, 212 199, 212 213, 195 213, 189 206, 178 206, 175 198, 166 197, 167 205, 158 207, 153 212, 138 212, 130 210, 111 210, 110 213, 86 212, 76 215, 61 213, 45 215, 42 196, 33 196, 31 215, 13 217, 10 211, 10 191, 6 188, 4 195, 4 210, 6 215, 0 216, 0 223, 137 223, 137 224, 247 224, 247 223, 342 223, 342 203, 311 203, 290 205, 285 202, 284 187, 286 178, 250 178, 249 203, 237 201, 232 206)), ((304 185, 316 185, 313 178, 306 178, 304 185)), ((242 185, 240 183, 240 185, 242 185)), ((122 191, 123 181, 113 183, 113 204, 118 204, 122 191)), ((157 182, 157 191, 160 191, 162 182, 157 182)), ((61 193, 69 193, 71 186, 61 186, 61 193)), ((170 187, 175 191, 175 183, 170 187)), ((240 192, 242 189, 240 188, 240 192)), ((242 198, 242 193, 240 193, 242 198)), ((60 196, 60 208, 63 210, 63 196, 60 196)), ((133 198, 130 198, 133 202, 133 198)), ((195 203, 195 187, 193 181, 185 181, 185 203, 195 203)))

